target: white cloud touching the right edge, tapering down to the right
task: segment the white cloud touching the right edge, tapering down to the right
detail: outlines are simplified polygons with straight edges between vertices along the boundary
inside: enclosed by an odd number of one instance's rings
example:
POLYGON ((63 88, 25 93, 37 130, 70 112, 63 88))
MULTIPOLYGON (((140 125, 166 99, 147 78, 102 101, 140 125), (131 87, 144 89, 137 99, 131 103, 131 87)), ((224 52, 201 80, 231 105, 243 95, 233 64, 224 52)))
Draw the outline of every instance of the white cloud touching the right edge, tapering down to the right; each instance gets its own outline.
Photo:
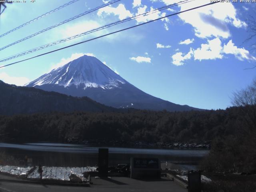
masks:
POLYGON ((233 54, 236 58, 239 60, 256 60, 255 57, 250 56, 250 53, 248 50, 244 48, 238 48, 237 46, 234 45, 232 40, 230 40, 226 45, 223 47, 223 53, 225 54, 233 54))

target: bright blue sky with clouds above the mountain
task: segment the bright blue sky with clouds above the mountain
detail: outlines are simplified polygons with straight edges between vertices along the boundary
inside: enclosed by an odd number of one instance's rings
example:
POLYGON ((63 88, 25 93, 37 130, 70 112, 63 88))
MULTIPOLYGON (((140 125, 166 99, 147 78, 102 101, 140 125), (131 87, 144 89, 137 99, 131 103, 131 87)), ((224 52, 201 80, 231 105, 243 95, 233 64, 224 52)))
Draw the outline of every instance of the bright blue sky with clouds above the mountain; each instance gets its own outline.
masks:
MULTIPOLYGON (((0 63, 9 64, 82 40, 140 24, 208 3, 195 0, 156 12, 93 34, 0 63)), ((36 0, 7 4, 0 18, 0 34, 11 30, 69 0, 36 0)), ((107 1, 80 0, 0 38, 0 47, 38 32, 107 1)), ((0 51, 0 58, 26 51, 110 22, 153 10, 178 0, 121 0, 98 11, 48 30, 0 51)), ((158 20, 118 34, 0 69, 0 79, 23 85, 53 68, 89 54, 96 56, 124 79, 153 96, 197 108, 232 106, 232 92, 248 86, 255 77, 256 52, 248 37, 247 19, 256 3, 218 3, 158 20)))

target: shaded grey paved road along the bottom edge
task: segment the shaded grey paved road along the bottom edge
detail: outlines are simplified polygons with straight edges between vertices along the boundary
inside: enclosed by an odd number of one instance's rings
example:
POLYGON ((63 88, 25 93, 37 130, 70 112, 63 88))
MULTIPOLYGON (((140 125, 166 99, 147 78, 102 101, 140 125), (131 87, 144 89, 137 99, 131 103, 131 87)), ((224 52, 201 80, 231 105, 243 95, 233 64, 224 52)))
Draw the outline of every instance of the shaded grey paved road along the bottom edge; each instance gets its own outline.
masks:
POLYGON ((0 181, 1 192, 187 192, 176 182, 163 178, 160 181, 141 181, 125 177, 111 179, 92 178, 91 187, 24 184, 0 181))

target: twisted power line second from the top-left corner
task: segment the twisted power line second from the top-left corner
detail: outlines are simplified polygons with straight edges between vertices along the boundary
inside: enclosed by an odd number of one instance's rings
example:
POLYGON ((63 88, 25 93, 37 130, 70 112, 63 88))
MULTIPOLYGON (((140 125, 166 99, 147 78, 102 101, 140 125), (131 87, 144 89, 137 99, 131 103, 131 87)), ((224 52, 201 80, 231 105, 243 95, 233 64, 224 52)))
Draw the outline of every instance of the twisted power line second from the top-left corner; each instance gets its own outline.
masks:
POLYGON ((120 0, 113 0, 113 1, 111 1, 111 2, 108 2, 108 3, 106 3, 106 4, 103 4, 103 5, 101 5, 101 6, 98 6, 98 7, 96 7, 96 8, 93 8, 93 9, 91 9, 91 10, 89 10, 89 11, 83 12, 83 13, 81 13, 81 14, 79 14, 79 15, 76 15, 76 16, 74 16, 74 17, 72 17, 72 18, 69 18, 69 19, 67 19, 67 20, 64 20, 64 21, 62 21, 62 22, 60 22, 60 23, 58 23, 58 24, 55 24, 55 25, 53 25, 53 26, 50 26, 50 27, 48 27, 48 28, 45 28, 45 29, 43 29, 43 30, 41 30, 41 31, 39 31, 39 32, 36 32, 36 33, 34 33, 34 34, 30 35, 30 36, 27 36, 27 37, 25 37, 25 38, 22 38, 22 39, 20 39, 20 40, 18 40, 18 41, 16 41, 16 42, 13 42, 13 43, 11 43, 11 44, 9 44, 9 45, 6 45, 6 46, 0 48, 0 50, 3 50, 3 49, 5 49, 5 48, 8 48, 8 47, 10 47, 10 46, 12 46, 12 45, 14 45, 14 44, 17 44, 17 43, 20 43, 20 42, 22 42, 22 41, 24 41, 24 40, 27 40, 27 39, 29 39, 29 38, 32 38, 32 37, 34 37, 34 36, 36 36, 36 35, 38 35, 38 34, 40 34, 40 33, 42 33, 42 32, 46 32, 47 30, 50 30, 50 29, 55 28, 55 27, 57 27, 57 26, 60 26, 60 25, 62 25, 62 24, 64 24, 64 23, 66 23, 66 22, 69 22, 69 21, 71 21, 71 20, 74 20, 74 19, 76 19, 76 18, 79 18, 79 17, 81 17, 81 16, 84 16, 84 15, 90 13, 90 12, 96 11, 96 10, 98 10, 98 9, 100 9, 100 8, 106 7, 106 6, 110 5, 110 4, 113 4, 113 3, 118 2, 118 1, 120 1, 120 0))

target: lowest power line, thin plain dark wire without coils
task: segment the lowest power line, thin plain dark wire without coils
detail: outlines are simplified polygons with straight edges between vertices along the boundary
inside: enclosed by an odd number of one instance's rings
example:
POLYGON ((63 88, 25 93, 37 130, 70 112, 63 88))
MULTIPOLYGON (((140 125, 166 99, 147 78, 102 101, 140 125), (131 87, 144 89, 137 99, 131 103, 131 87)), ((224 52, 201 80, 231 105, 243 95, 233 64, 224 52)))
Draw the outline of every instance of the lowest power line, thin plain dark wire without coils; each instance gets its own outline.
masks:
POLYGON ((190 9, 187 9, 187 10, 184 10, 184 11, 180 11, 180 12, 177 12, 177 13, 174 13, 174 14, 170 14, 170 15, 167 15, 167 16, 163 16, 163 17, 160 17, 160 18, 157 18, 157 19, 148 21, 148 22, 144 22, 144 23, 142 23, 142 24, 134 25, 134 26, 131 26, 131 27, 128 27, 128 28, 124 28, 124 29, 121 29, 121 30, 118 30, 118 31, 115 31, 115 32, 111 32, 111 33, 108 33, 108 34, 105 34, 105 35, 102 35, 102 36, 98 36, 98 37, 95 37, 95 38, 92 38, 92 39, 89 39, 89 40, 85 40, 85 41, 82 41, 82 42, 79 42, 79 43, 76 43, 76 44, 72 44, 72 45, 69 45, 69 46, 66 46, 66 47, 62 47, 62 48, 59 48, 59 49, 56 49, 56 50, 52 50, 52 51, 50 51, 50 52, 46 52, 46 53, 43 53, 43 54, 40 54, 40 55, 37 55, 37 56, 34 56, 34 57, 30 57, 30 58, 27 58, 27 59, 24 59, 24 60, 20 60, 20 61, 13 62, 13 63, 7 64, 7 65, 4 65, 4 66, 0 66, 0 68, 6 67, 6 66, 10 66, 10 65, 13 65, 13 64, 16 64, 16 63, 20 63, 20 62, 23 62, 23 61, 26 61, 26 60, 30 60, 30 59, 33 59, 33 58, 37 58, 37 57, 40 57, 40 56, 43 56, 43 55, 46 55, 46 54, 50 54, 50 53, 53 53, 53 52, 56 52, 56 51, 59 51, 59 50, 62 50, 62 49, 66 49, 66 48, 69 48, 69 47, 78 45, 78 44, 82 44, 82 43, 85 43, 85 42, 89 42, 89 41, 92 41, 92 40, 96 40, 96 39, 98 39, 98 38, 102 38, 102 37, 105 37, 105 36, 109 36, 109 35, 112 35, 112 34, 115 34, 115 33, 118 33, 118 32, 122 32, 122 31, 125 31, 125 30, 128 30, 128 29, 132 29, 132 28, 135 28, 135 27, 144 25, 144 24, 148 24, 148 23, 151 23, 151 22, 160 20, 160 19, 164 19, 164 18, 167 18, 167 17, 170 17, 170 16, 174 16, 174 15, 177 15, 177 14, 181 14, 181 13, 184 13, 184 12, 188 12, 188 11, 191 11, 191 10, 195 10, 195 9, 198 9, 198 8, 201 8, 201 7, 205 7, 205 6, 209 6, 209 5, 212 5, 212 4, 216 4, 216 3, 219 3, 219 2, 220 2, 220 1, 216 1, 216 2, 212 2, 212 3, 204 4, 204 5, 201 5, 201 6, 198 6, 198 7, 190 8, 190 9))

